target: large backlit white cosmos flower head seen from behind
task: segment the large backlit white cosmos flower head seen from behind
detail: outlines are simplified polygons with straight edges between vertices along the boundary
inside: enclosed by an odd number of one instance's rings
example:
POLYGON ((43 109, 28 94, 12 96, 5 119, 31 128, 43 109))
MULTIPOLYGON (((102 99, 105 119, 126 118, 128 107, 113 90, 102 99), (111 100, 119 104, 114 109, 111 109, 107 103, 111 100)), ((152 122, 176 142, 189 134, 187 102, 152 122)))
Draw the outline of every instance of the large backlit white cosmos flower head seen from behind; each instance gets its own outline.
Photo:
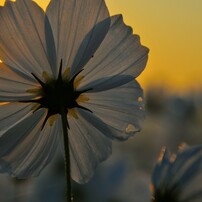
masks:
POLYGON ((31 0, 0 7, 0 172, 36 176, 62 136, 66 107, 71 176, 84 183, 113 139, 140 131, 142 90, 134 80, 148 49, 109 16, 104 0, 31 0))

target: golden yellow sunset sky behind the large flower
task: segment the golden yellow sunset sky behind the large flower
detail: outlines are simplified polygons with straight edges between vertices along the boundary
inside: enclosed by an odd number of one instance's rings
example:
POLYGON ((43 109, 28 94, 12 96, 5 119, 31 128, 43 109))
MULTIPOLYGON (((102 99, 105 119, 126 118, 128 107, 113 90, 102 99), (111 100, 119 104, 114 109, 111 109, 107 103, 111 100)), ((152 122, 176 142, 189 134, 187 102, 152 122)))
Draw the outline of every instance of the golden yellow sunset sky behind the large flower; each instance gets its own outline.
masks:
MULTIPOLYGON (((49 0, 35 0, 45 8, 49 0)), ((3 5, 4 0, 0 0, 3 5)), ((106 0, 111 15, 126 24, 149 47, 148 65, 138 78, 143 88, 184 92, 202 85, 201 0, 106 0)))

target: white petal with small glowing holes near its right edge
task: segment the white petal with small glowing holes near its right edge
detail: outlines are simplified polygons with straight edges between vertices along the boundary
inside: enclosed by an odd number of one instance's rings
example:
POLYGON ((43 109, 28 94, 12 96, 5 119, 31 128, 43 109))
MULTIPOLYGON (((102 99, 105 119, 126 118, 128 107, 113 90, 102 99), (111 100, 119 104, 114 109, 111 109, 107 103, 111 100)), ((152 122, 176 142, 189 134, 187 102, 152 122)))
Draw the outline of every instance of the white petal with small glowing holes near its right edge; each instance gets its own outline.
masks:
POLYGON ((85 95, 89 100, 79 104, 90 109, 110 127, 112 135, 109 136, 125 140, 141 130, 145 116, 144 101, 142 89, 136 81, 108 91, 85 95))

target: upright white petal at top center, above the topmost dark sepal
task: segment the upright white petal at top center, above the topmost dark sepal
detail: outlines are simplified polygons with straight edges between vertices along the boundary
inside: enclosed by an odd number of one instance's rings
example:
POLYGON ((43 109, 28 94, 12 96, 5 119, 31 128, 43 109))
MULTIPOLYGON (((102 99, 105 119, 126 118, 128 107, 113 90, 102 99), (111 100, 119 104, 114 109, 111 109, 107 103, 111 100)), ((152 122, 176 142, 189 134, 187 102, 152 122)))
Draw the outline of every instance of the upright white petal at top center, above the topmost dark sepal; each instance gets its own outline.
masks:
POLYGON ((47 8, 58 63, 81 70, 104 39, 110 18, 104 0, 52 0, 47 8))

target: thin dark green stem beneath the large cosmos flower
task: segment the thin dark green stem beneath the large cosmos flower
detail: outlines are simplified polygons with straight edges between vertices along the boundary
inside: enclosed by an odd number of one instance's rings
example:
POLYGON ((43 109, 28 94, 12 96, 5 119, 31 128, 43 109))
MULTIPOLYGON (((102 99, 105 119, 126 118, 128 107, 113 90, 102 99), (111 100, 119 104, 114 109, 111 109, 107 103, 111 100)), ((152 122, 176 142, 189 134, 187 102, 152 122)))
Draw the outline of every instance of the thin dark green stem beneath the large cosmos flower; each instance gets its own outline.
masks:
POLYGON ((66 177, 66 198, 67 202, 73 202, 72 198, 72 188, 71 188, 71 170, 70 170, 70 152, 69 152, 69 138, 67 132, 67 115, 65 109, 61 109, 61 118, 62 118, 62 128, 63 128, 63 138, 64 138, 64 150, 65 150, 65 177, 66 177))

